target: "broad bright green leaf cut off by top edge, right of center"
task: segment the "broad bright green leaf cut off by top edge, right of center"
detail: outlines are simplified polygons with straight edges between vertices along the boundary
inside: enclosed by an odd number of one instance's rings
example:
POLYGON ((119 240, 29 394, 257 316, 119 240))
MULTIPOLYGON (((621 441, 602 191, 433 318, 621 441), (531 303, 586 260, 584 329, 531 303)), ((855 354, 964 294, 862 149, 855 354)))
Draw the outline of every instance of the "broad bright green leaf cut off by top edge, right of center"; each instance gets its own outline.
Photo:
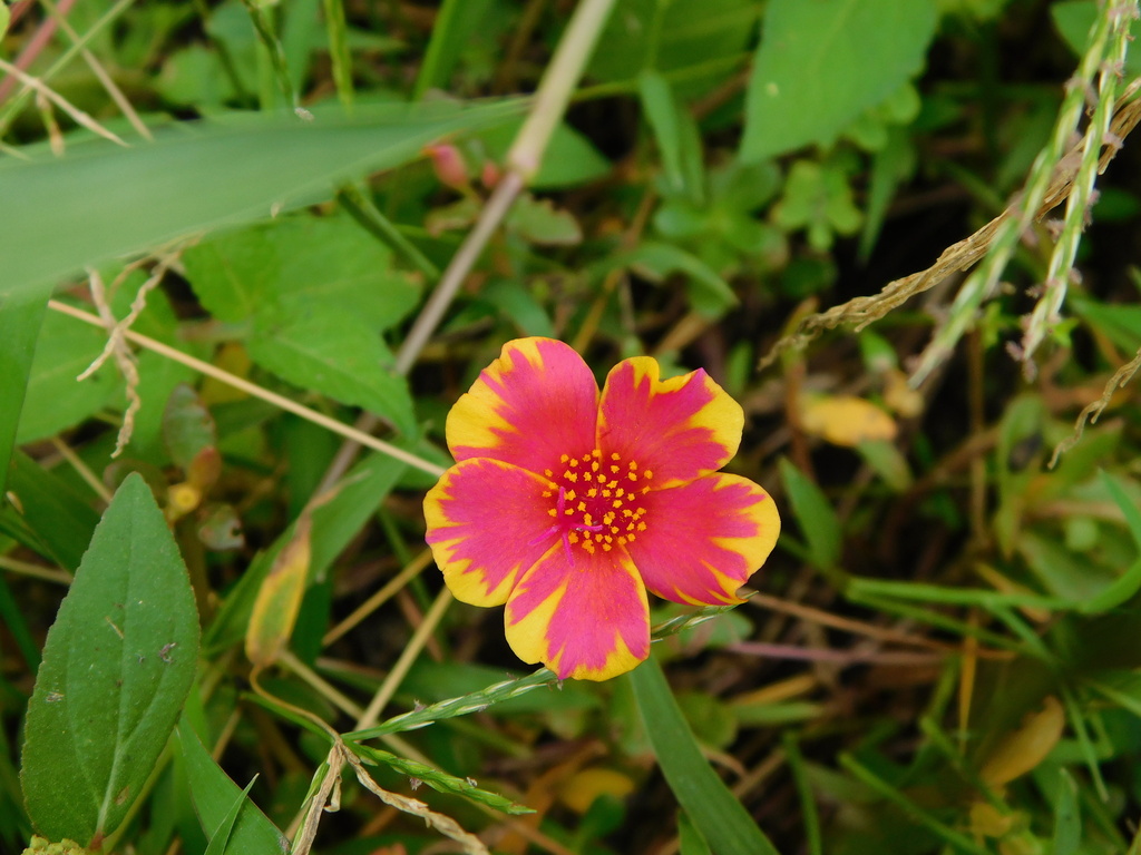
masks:
POLYGON ((745 104, 743 160, 830 145, 923 66, 929 0, 771 0, 745 104))

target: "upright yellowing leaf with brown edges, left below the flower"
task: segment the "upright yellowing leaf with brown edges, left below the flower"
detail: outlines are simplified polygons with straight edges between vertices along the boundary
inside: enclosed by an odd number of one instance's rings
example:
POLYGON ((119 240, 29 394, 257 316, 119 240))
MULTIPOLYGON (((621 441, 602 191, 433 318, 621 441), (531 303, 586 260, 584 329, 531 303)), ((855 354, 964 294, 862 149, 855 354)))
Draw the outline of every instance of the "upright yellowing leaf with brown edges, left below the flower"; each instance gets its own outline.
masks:
POLYGON ((277 661, 293 634, 309 575, 310 519, 308 513, 301 514, 292 539, 277 554, 258 589, 250 626, 245 630, 245 656, 254 668, 265 668, 277 661))

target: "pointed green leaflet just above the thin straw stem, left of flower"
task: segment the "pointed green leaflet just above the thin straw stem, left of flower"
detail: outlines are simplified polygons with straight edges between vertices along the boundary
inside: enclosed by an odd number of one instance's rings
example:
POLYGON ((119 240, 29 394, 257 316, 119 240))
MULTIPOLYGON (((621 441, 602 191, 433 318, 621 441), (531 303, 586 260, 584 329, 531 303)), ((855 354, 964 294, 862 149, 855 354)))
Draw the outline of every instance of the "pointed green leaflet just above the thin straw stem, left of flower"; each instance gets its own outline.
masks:
POLYGON ((259 324, 250 358, 301 389, 388 418, 400 433, 416 430, 407 381, 390 370, 391 353, 375 328, 333 308, 298 311, 259 324))

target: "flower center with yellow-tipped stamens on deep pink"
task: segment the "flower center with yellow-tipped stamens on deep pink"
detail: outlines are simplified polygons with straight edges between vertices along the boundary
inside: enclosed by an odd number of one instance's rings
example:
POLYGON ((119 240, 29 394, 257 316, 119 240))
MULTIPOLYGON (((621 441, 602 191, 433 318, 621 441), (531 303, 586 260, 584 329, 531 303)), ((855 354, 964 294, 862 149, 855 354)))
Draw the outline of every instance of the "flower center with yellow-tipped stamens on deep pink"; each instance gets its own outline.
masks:
POLYGON ((543 470, 548 488, 543 498, 551 527, 536 543, 551 535, 563 538, 567 560, 574 563, 573 547, 593 555, 610 552, 638 539, 646 530, 642 497, 649 492, 654 473, 640 469, 637 461, 623 461, 618 454, 604 455, 594 448, 578 457, 563 455, 563 472, 543 470))

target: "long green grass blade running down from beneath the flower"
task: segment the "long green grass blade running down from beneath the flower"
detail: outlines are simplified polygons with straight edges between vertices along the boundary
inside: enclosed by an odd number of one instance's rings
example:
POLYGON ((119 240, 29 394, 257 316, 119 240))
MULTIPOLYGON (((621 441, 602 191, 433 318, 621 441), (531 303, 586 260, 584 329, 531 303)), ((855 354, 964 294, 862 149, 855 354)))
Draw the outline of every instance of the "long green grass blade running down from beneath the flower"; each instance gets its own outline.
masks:
POLYGON ((777 855, 705 760, 657 660, 650 657, 628 679, 662 774, 713 855, 777 855))

